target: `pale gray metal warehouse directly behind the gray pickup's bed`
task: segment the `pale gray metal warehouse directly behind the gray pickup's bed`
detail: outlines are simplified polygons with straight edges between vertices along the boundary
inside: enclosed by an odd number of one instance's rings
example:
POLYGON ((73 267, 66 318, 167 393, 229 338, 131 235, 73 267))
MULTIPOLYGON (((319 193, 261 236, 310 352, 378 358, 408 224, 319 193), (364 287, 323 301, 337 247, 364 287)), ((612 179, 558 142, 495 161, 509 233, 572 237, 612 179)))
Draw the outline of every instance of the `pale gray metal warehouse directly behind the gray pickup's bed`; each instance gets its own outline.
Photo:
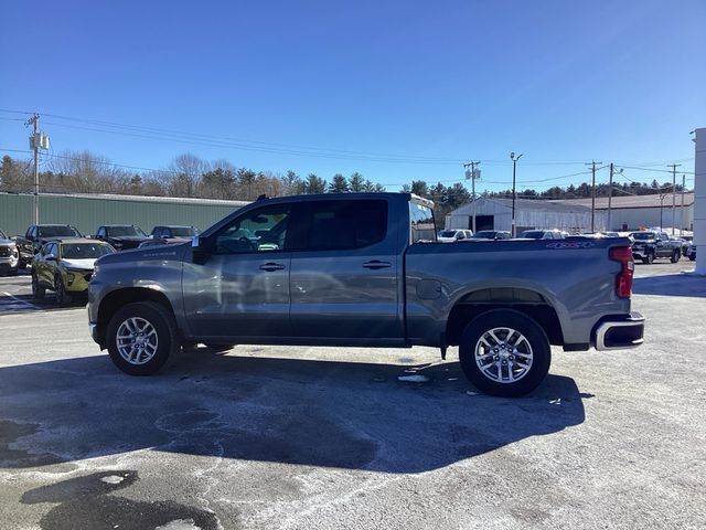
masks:
MULTIPOLYGON (((446 216, 447 229, 472 229, 473 203, 464 204, 446 216)), ((595 230, 606 230, 606 212, 596 211, 595 230)), ((475 200, 475 230, 506 230, 512 225, 512 199, 475 200)), ((515 200, 516 232, 530 229, 559 229, 586 232, 591 229, 589 205, 546 200, 515 200)))

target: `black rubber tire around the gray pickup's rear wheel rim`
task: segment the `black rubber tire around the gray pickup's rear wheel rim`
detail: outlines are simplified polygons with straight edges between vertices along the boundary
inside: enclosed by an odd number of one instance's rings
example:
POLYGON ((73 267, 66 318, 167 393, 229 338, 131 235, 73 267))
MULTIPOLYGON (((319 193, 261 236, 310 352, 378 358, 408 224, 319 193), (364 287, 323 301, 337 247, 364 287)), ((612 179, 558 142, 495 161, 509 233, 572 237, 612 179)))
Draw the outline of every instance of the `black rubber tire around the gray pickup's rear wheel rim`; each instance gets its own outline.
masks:
MULTIPOLYGON (((482 354, 488 356, 489 353, 482 354)), ((459 344, 459 360, 466 377, 482 392, 503 398, 516 398, 532 392, 542 383, 549 371, 552 349, 546 333, 535 320, 513 309, 495 309, 475 317, 466 326, 459 344), (522 343, 515 344, 516 350, 509 350, 507 347, 511 344, 506 343, 509 342, 506 339, 516 339, 516 336, 509 333, 503 338, 503 331, 501 331, 503 328, 515 330, 524 337, 525 340, 522 343), (491 330, 496 331, 495 335, 502 339, 501 342, 505 341, 506 343, 505 348, 499 348, 496 357, 491 357, 489 362, 484 364, 491 372, 493 368, 495 369, 495 379, 490 374, 486 375, 486 371, 481 370, 475 360, 477 348, 490 351, 491 356, 495 352, 494 349, 489 350, 481 346, 481 339, 491 330), (516 361, 524 358, 528 349, 532 353, 532 360, 525 368, 516 361), (507 352, 514 353, 514 356, 507 352), (505 354, 509 358, 503 361, 502 357, 505 354), (503 362, 504 364, 502 364, 503 362), (498 375, 501 380, 506 379, 505 373, 510 377, 512 367, 517 367, 517 372, 513 370, 513 374, 520 375, 517 381, 502 382, 496 380, 498 375), (523 368, 525 368, 524 372, 523 368)), ((482 360, 480 362, 482 363, 482 360)))

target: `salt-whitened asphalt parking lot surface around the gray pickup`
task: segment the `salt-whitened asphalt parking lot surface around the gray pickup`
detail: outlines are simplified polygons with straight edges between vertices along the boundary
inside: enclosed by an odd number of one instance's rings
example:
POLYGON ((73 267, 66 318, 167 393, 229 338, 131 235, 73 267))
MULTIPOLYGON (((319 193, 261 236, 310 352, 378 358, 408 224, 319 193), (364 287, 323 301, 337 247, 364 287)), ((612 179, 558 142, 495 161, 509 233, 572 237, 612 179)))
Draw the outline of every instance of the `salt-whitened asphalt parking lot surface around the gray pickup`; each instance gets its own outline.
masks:
POLYGON ((0 278, 0 528, 704 528, 693 267, 638 264, 644 346, 554 349, 514 400, 427 348, 197 349, 130 378, 83 306, 0 278))

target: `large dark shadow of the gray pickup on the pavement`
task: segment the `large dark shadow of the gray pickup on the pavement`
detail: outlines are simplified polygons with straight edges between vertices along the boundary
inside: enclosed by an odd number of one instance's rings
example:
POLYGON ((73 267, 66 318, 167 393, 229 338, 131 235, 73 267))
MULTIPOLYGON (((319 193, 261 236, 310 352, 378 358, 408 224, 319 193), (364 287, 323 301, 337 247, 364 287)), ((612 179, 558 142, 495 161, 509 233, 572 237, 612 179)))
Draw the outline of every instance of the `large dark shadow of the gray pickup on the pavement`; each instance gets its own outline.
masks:
POLYGON ((560 375, 527 398, 500 399, 473 392, 458 362, 405 367, 257 351, 200 350, 151 378, 117 372, 107 356, 2 368, 0 468, 150 449, 421 473, 578 425, 591 396, 560 375), (397 379, 408 373, 427 382, 397 379))

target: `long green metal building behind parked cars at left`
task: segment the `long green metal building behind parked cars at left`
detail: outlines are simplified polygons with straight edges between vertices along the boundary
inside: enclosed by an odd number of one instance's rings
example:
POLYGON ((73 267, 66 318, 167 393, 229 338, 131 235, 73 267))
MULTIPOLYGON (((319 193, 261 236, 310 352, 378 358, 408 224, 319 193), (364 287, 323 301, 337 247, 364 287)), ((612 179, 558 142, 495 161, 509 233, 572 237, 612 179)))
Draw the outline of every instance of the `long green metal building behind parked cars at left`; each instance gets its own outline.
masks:
MULTIPOLYGON (((33 195, 0 193, 0 229, 24 234, 33 220, 33 195)), ((40 223, 72 224, 95 234, 100 224, 135 224, 150 232, 158 224, 204 230, 247 204, 245 201, 108 194, 41 194, 40 223)))

